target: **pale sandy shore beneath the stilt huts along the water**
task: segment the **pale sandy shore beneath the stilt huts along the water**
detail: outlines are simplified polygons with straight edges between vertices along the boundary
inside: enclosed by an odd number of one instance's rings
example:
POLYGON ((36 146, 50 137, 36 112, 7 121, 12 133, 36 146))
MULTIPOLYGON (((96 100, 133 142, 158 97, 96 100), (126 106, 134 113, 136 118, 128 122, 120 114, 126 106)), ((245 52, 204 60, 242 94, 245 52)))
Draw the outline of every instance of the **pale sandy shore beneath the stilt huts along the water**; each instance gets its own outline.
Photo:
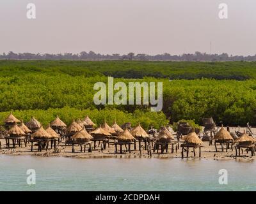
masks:
MULTIPOLYGON (((245 128, 240 128, 239 131, 243 131, 245 128)), ((235 130, 238 130, 238 128, 230 128, 230 132, 234 132, 235 130)), ((256 128, 252 129, 253 133, 256 133, 256 128)), ((174 142, 177 142, 177 139, 174 140, 174 142)), ((182 143, 182 142, 180 142, 182 143)), ((64 142, 60 142, 58 144, 58 149, 60 152, 55 153, 54 150, 42 150, 42 152, 37 152, 37 147, 33 150, 33 152, 30 151, 31 145, 28 144, 27 147, 16 147, 15 149, 6 149, 5 140, 1 139, 2 149, 0 150, 0 154, 3 155, 11 155, 11 156, 57 156, 57 157, 75 157, 75 158, 181 158, 181 148, 177 150, 177 152, 171 153, 171 148, 169 147, 168 152, 164 154, 159 154, 157 152, 153 152, 152 150, 152 156, 150 157, 148 155, 147 150, 141 150, 141 154, 139 150, 134 151, 133 145, 131 146, 131 153, 126 152, 125 154, 115 154, 115 145, 110 144, 110 146, 106 147, 106 150, 103 150, 103 152, 100 150, 100 147, 96 147, 93 152, 88 152, 88 149, 86 148, 86 152, 80 152, 80 147, 78 145, 75 146, 75 153, 72 153, 72 147, 66 146, 64 142)), ((144 144, 144 143, 143 143, 144 144)), ((23 145, 24 146, 24 145, 23 145)), ((124 147, 123 147, 124 148, 124 147)), ((119 149, 119 147, 118 147, 119 149)), ((138 145, 137 145, 138 149, 138 145)), ((160 150, 159 150, 160 152, 160 150)), ((198 158, 198 149, 196 149, 196 158, 198 158)), ((204 142, 204 147, 202 147, 202 156, 201 158, 204 159, 215 159, 215 160, 223 160, 223 159, 235 159, 236 151, 233 148, 233 151, 231 149, 228 149, 226 152, 226 149, 221 152, 221 146, 218 145, 218 152, 216 152, 214 145, 209 145, 209 142, 204 142)), ((192 149, 189 150, 189 157, 193 157, 192 149)), ((244 151, 243 156, 237 157, 239 160, 252 160, 256 159, 256 156, 251 156, 251 153, 244 151)))

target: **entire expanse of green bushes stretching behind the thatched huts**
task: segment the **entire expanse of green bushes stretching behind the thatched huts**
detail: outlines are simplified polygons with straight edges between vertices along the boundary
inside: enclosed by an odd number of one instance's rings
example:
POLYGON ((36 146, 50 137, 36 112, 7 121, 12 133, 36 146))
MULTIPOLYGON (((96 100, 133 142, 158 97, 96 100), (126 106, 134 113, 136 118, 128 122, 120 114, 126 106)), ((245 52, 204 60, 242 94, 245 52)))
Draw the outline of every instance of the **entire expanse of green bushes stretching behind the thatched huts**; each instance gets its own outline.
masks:
MULTIPOLYGON (((201 123, 202 117, 213 117, 216 122, 228 125, 256 124, 256 73, 255 62, 79 62, 79 61, 0 61, 0 119, 14 110, 15 115, 29 120, 32 115, 44 124, 57 114, 67 123, 72 119, 90 115, 98 124, 106 118, 120 123, 139 120, 148 128, 166 124, 168 119, 193 119, 201 123), (208 64, 208 65, 207 65, 208 64), (144 75, 154 71, 164 75, 189 78, 195 70, 224 78, 252 78, 251 80, 168 80, 143 78, 140 82, 163 82, 163 113, 148 112, 147 106, 106 105, 93 103, 95 82, 107 82, 106 72, 118 70, 141 71, 144 75), (240 69, 239 69, 240 68, 240 69), (226 71, 223 71, 223 70, 226 71), (148 71, 150 70, 150 71, 148 71), (176 70, 176 71, 175 71, 176 70), (190 70, 190 71, 189 71, 190 70), (211 73, 209 71, 208 73, 211 73), (168 74, 169 73, 169 74, 168 74), (72 107, 72 108, 69 108, 72 107), (97 108, 97 109, 96 109, 97 108), (115 111, 110 110, 115 108, 115 111), (140 115, 140 116, 139 116, 140 115)), ((110 74, 109 74, 110 75, 110 74)), ((134 76, 131 76, 134 78, 134 76)), ((170 77, 170 76, 168 76, 170 77)), ((170 77, 172 78, 172 77, 170 77)), ((115 81, 131 81, 116 78, 115 81)))

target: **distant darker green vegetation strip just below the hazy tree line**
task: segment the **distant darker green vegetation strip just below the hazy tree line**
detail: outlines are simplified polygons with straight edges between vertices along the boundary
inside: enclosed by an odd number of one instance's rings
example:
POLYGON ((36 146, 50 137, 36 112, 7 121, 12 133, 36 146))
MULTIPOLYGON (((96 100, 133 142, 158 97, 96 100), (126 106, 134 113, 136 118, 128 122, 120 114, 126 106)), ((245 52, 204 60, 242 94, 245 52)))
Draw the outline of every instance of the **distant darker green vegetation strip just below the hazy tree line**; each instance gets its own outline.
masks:
POLYGON ((26 73, 115 78, 256 79, 256 62, 0 61, 0 76, 26 73))

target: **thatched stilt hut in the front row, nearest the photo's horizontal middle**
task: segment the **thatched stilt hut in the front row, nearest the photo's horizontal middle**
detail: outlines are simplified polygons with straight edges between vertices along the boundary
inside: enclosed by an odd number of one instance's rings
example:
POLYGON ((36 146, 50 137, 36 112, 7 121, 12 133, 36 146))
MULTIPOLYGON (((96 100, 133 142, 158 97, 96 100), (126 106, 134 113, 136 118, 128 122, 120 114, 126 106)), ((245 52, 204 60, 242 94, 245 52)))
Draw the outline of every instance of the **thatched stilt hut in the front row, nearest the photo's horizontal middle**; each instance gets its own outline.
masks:
POLYGON ((115 152, 117 153, 117 145, 120 145, 120 153, 122 154, 122 145, 128 145, 128 151, 131 152, 131 144, 134 142, 136 138, 132 136, 132 134, 129 132, 129 130, 126 128, 123 133, 120 133, 117 137, 117 141, 115 143, 115 152))

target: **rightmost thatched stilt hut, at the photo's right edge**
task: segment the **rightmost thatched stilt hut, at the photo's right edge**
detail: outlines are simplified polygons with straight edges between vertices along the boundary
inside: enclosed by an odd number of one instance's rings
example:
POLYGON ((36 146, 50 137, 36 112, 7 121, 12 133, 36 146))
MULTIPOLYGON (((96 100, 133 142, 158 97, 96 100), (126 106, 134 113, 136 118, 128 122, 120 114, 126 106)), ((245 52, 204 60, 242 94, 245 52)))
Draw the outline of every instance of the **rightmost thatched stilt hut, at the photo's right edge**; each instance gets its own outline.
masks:
POLYGON ((255 156, 255 139, 252 136, 249 136, 245 133, 243 133, 243 135, 239 136, 239 138, 237 138, 236 140, 236 157, 237 157, 237 149, 239 150, 239 156, 240 156, 240 149, 242 149, 243 152, 243 148, 245 148, 248 152, 248 150, 250 150, 252 152, 252 156, 255 156))

